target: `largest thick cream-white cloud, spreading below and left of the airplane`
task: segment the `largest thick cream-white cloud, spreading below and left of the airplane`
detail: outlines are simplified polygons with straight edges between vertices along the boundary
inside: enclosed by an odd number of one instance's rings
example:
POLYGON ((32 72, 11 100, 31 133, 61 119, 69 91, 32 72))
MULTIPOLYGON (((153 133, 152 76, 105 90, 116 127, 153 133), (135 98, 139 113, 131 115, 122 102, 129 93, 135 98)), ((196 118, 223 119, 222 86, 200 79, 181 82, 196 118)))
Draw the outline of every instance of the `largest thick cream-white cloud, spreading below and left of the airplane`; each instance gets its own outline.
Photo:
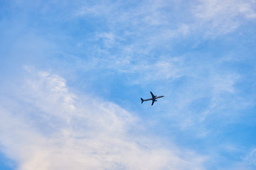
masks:
POLYGON ((56 74, 30 74, 1 98, 0 143, 18 169, 203 169, 204 157, 142 135, 114 103, 75 95, 56 74))

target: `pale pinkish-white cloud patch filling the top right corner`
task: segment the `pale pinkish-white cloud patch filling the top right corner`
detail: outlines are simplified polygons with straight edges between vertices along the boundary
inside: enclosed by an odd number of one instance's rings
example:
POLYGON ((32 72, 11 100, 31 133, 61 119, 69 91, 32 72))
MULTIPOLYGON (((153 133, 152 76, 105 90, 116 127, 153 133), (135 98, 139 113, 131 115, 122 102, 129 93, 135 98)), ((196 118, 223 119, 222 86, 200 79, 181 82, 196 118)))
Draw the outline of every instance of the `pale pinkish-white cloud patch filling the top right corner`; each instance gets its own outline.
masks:
POLYGON ((244 22, 244 18, 256 18, 253 6, 253 0, 200 0, 193 8, 197 20, 195 28, 203 29, 210 37, 233 32, 244 22))

